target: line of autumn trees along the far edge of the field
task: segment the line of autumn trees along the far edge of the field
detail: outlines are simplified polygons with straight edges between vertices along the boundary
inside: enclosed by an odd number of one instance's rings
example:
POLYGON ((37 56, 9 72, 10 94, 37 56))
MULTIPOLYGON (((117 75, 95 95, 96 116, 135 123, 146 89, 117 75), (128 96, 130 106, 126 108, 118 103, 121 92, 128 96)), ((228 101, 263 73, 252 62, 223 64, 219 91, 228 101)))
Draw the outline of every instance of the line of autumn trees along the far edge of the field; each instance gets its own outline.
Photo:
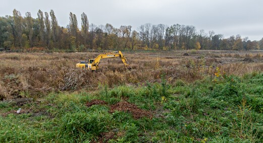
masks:
POLYGON ((132 30, 132 26, 115 28, 111 24, 89 24, 87 15, 81 14, 81 27, 77 16, 69 14, 69 25, 61 27, 53 10, 37 12, 32 18, 25 17, 14 9, 13 16, 0 17, 0 49, 88 51, 107 49, 209 49, 209 50, 253 50, 263 49, 263 38, 251 41, 240 35, 224 38, 214 31, 197 31, 192 25, 144 24, 132 30))

